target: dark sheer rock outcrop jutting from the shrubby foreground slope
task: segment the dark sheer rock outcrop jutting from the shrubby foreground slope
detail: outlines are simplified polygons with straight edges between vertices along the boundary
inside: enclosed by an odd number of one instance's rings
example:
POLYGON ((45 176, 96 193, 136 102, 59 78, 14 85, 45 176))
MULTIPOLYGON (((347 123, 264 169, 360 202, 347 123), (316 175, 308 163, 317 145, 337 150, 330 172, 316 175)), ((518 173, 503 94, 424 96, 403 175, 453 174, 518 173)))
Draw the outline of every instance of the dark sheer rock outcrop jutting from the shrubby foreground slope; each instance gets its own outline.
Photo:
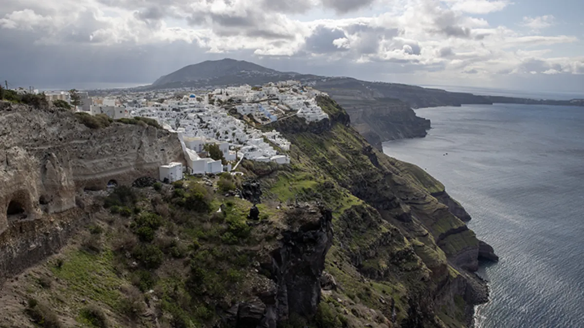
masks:
POLYGON ((317 312, 325 257, 333 242, 332 213, 306 204, 286 217, 282 238, 260 264, 270 272, 272 284, 258 299, 228 310, 224 327, 276 328, 293 313, 312 317, 317 312))

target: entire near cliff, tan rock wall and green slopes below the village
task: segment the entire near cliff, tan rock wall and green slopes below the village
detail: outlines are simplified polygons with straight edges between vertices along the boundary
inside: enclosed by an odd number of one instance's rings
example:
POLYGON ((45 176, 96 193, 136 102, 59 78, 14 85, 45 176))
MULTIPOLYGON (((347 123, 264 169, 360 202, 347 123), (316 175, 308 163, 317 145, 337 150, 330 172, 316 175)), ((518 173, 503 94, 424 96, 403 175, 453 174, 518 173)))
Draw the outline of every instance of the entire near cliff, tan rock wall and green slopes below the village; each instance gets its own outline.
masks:
POLYGON ((329 120, 270 125, 292 142, 291 165, 244 160, 244 177, 141 188, 123 185, 179 159, 172 134, 93 130, 65 111, 2 103, 2 199, 22 212, 7 217, 0 269, 32 266, 5 282, 4 322, 467 326, 488 297, 472 272, 479 257, 496 260, 492 248, 442 184, 371 146, 332 99, 318 102, 329 120))

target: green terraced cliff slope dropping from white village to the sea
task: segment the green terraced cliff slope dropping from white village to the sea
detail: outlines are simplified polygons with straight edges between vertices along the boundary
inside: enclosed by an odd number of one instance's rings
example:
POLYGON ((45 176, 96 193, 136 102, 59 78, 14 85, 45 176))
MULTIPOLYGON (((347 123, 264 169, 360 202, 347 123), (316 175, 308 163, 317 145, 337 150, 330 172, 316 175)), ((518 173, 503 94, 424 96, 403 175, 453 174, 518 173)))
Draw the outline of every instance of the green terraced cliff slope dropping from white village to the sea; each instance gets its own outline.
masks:
POLYGON ((293 144, 290 168, 253 168, 262 176, 265 197, 317 198, 333 209, 335 242, 325 270, 336 289, 324 292, 327 302, 342 301, 363 325, 369 320, 390 327, 470 322, 472 306, 488 297, 485 282, 472 271, 479 257, 488 257, 482 253, 492 249, 481 246, 464 224, 462 219, 469 218, 464 208, 422 169, 368 144, 333 100, 318 101, 331 116, 326 124, 291 131, 302 124, 293 118, 273 125, 293 144), (354 309, 353 303, 366 308, 354 309), (366 314, 371 310, 380 317, 366 314))

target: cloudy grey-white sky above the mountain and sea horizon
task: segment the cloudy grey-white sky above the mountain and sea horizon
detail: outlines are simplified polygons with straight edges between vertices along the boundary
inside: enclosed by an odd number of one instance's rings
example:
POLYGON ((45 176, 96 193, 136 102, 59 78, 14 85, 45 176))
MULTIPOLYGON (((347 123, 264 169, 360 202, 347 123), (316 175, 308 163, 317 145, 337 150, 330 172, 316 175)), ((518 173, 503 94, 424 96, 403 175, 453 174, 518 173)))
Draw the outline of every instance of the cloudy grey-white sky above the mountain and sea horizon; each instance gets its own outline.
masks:
POLYGON ((416 85, 584 90, 582 0, 1 0, 0 80, 138 85, 234 58, 416 85))

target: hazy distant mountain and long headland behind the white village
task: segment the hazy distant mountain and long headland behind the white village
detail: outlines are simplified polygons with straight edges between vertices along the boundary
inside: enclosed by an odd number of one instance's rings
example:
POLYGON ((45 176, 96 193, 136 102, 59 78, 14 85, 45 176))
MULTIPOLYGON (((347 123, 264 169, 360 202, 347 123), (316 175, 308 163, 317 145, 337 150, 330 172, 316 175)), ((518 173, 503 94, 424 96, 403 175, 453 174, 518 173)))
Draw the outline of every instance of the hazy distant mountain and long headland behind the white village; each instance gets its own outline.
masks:
POLYGON ((232 59, 189 65, 162 76, 151 86, 140 89, 262 85, 289 79, 302 81, 328 93, 349 113, 353 126, 378 148, 383 141, 425 137, 427 130, 430 129, 430 121, 416 116, 412 108, 493 103, 584 106, 582 100, 477 96, 401 83, 367 82, 346 77, 279 72, 252 62, 232 59))

